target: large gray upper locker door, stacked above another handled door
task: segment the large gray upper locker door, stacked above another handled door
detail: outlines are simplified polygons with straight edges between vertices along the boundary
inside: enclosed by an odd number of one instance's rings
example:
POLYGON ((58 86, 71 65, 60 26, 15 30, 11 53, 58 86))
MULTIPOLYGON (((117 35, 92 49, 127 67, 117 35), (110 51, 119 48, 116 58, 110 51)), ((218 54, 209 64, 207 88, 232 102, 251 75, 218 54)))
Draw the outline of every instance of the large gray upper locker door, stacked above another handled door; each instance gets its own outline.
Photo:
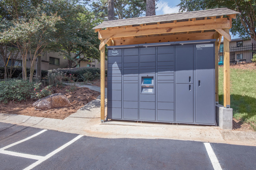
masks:
POLYGON ((193 83, 193 45, 176 46, 176 83, 193 83))

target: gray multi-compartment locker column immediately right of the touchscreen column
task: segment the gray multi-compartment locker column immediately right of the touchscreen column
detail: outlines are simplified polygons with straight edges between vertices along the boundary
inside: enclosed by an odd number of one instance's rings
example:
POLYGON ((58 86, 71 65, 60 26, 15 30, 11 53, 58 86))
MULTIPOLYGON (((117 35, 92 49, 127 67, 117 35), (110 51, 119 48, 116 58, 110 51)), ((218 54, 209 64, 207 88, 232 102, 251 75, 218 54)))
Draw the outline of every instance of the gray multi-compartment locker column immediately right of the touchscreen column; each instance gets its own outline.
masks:
POLYGON ((157 120, 174 122, 174 46, 158 46, 157 120))

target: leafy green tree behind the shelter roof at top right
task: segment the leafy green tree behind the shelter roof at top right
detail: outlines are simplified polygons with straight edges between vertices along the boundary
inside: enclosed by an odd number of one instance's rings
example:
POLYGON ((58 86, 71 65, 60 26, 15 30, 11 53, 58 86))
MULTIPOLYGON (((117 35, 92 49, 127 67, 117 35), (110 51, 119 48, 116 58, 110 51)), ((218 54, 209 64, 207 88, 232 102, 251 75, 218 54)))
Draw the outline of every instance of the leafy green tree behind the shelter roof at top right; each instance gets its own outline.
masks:
POLYGON ((230 32, 238 33, 240 38, 256 40, 256 0, 181 0, 177 6, 180 6, 180 12, 221 7, 238 11, 240 15, 232 20, 230 32))

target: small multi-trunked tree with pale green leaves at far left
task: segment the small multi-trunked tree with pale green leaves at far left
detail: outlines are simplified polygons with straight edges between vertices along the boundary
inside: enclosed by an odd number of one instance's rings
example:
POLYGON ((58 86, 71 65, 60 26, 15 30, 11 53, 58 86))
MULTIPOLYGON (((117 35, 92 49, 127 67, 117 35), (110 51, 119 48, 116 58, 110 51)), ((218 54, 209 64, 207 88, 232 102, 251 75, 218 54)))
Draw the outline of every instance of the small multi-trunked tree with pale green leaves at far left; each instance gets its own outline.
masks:
POLYGON ((0 43, 10 43, 17 47, 22 56, 22 78, 26 80, 26 60, 30 60, 30 82, 33 79, 34 64, 36 58, 52 41, 56 31, 55 24, 60 20, 56 15, 47 16, 41 6, 30 9, 30 14, 14 18, 12 26, 2 32, 0 43))

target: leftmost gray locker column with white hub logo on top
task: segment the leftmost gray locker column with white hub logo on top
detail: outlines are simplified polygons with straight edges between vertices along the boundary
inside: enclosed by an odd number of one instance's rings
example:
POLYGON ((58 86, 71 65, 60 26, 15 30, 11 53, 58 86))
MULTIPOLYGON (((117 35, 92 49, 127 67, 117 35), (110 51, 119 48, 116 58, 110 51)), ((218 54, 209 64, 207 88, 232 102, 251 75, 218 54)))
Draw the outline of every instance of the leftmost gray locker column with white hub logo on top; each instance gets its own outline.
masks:
POLYGON ((108 119, 121 119, 122 49, 108 50, 108 119))

